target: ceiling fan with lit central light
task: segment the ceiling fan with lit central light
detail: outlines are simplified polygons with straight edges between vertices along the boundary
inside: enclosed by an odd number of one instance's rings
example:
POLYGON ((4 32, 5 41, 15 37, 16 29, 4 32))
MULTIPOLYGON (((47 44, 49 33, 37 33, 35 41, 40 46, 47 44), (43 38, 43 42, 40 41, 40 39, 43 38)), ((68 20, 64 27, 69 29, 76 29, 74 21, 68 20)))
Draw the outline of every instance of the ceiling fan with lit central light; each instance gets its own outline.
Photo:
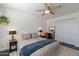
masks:
POLYGON ((62 7, 61 5, 57 5, 57 6, 53 6, 53 7, 52 7, 52 6, 49 6, 48 3, 44 3, 43 5, 44 5, 44 8, 43 8, 43 9, 41 9, 41 10, 36 10, 36 11, 38 11, 38 12, 39 12, 39 11, 43 12, 42 16, 44 16, 44 15, 46 15, 46 14, 52 14, 52 15, 54 15, 56 9, 59 9, 59 8, 62 7))

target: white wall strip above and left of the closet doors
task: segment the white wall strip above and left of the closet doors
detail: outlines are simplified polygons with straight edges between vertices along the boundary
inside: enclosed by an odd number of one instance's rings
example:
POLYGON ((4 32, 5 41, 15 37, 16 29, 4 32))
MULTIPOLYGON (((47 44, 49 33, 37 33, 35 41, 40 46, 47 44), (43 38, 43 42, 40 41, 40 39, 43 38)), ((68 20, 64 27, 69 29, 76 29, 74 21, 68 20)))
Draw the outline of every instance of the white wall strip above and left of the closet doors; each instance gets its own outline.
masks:
POLYGON ((75 17, 76 18, 79 17, 79 12, 71 13, 68 15, 63 15, 63 16, 56 17, 56 18, 47 19, 46 21, 47 31, 49 31, 49 26, 55 26, 56 21, 74 19, 75 17))

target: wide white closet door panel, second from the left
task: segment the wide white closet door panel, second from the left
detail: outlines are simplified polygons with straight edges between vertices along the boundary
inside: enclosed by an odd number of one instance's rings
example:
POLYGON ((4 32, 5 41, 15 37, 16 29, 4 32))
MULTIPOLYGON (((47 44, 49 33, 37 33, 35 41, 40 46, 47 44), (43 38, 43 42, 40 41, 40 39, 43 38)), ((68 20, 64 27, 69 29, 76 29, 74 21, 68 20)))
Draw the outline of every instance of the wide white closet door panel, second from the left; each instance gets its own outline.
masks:
POLYGON ((63 25, 64 25, 64 42, 74 45, 76 35, 76 21, 67 20, 64 21, 63 25))

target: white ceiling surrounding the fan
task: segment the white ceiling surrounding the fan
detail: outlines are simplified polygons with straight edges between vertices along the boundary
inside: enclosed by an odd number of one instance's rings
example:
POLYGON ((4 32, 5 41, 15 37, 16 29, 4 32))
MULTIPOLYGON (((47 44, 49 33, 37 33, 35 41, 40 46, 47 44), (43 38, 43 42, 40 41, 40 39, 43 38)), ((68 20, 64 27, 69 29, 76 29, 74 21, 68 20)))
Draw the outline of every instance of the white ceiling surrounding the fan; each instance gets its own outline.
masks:
POLYGON ((42 3, 0 3, 0 7, 11 8, 43 19, 55 18, 79 11, 79 3, 50 3, 49 5, 62 5, 62 8, 57 9, 54 15, 41 16, 42 12, 36 12, 35 10, 43 8, 42 3))

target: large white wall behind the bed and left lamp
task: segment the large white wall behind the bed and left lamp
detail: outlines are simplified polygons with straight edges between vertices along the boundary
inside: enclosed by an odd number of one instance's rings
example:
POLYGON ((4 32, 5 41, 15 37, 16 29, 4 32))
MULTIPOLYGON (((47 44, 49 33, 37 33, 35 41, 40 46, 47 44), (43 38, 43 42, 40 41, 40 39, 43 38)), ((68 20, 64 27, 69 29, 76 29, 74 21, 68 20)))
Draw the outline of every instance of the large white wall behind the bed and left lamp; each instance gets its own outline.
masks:
POLYGON ((39 27, 46 31, 45 20, 12 9, 4 10, 4 14, 9 17, 10 24, 8 26, 0 26, 0 51, 9 47, 8 43, 11 37, 8 35, 8 31, 11 28, 16 29, 17 34, 15 37, 18 41, 21 40, 21 34, 37 32, 39 27))

